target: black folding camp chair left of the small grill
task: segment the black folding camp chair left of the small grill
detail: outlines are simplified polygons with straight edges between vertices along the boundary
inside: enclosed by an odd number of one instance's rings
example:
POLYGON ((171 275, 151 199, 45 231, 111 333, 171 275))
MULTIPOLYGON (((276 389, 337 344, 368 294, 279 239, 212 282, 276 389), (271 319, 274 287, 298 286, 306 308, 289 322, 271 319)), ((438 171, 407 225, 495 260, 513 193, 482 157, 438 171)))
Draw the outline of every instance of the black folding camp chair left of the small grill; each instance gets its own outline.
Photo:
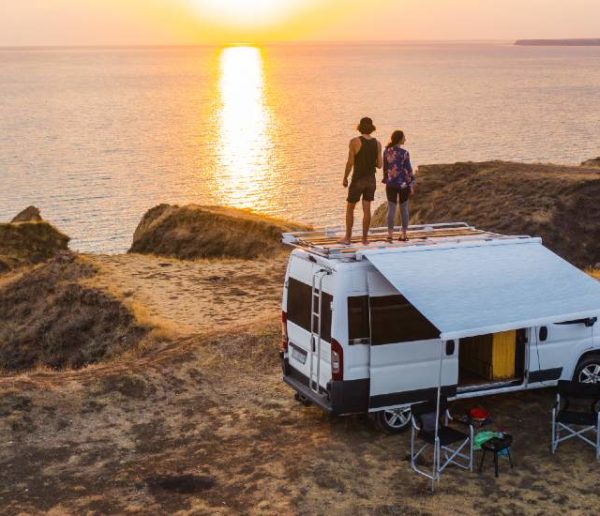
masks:
POLYGON ((412 406, 412 428, 410 435, 410 466, 419 475, 423 475, 434 482, 450 464, 473 471, 473 426, 467 424, 468 433, 448 426, 452 416, 448 411, 448 400, 440 399, 440 421, 438 435, 435 435, 436 400, 419 403, 412 406), (417 450, 415 441, 423 441, 417 450), (433 467, 431 473, 417 466, 417 459, 429 447, 433 447, 433 467), (468 447, 468 453, 465 448, 468 447), (442 457, 443 454, 443 457, 442 457))

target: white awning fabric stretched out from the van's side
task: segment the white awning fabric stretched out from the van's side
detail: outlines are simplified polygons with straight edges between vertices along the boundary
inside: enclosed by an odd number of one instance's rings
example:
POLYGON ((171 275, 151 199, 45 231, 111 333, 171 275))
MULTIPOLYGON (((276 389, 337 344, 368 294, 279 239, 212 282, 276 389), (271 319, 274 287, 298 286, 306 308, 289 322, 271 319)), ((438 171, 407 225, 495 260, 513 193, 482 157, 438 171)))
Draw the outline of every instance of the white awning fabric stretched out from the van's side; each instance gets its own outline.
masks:
POLYGON ((361 253, 444 340, 600 315, 600 283, 538 238, 361 253))

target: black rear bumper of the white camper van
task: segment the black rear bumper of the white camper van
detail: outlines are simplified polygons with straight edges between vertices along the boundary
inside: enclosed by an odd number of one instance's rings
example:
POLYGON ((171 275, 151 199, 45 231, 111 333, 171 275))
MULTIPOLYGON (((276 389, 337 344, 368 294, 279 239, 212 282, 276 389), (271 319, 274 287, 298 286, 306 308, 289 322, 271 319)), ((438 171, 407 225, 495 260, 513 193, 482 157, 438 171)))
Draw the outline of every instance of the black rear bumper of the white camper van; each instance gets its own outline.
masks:
POLYGON ((308 377, 282 357, 283 381, 328 414, 361 414, 369 410, 369 379, 331 381, 319 395, 308 385, 308 377))

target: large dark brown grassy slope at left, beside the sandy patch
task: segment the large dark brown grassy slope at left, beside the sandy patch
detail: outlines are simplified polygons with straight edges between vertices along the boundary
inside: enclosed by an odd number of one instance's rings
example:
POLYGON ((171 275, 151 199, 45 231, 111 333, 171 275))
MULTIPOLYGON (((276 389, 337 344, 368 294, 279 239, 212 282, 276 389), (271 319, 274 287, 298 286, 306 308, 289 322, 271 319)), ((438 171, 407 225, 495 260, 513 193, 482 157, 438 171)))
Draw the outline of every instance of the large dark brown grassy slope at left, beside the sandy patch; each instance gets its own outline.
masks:
POLYGON ((0 368, 78 368, 131 349, 147 328, 107 292, 80 283, 95 269, 60 254, 0 287, 0 368))

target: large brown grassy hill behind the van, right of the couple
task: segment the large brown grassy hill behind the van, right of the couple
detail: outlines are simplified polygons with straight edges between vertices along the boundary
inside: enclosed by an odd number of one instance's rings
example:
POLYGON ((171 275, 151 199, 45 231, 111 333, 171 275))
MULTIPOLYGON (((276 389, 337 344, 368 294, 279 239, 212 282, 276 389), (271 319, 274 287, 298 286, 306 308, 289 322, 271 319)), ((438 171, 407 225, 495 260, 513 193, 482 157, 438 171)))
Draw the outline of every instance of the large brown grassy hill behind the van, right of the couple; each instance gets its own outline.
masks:
MULTIPOLYGON (((419 167, 411 222, 539 235, 579 267, 600 263, 600 170, 501 161, 419 167)), ((373 225, 385 225, 380 206, 373 225)))

